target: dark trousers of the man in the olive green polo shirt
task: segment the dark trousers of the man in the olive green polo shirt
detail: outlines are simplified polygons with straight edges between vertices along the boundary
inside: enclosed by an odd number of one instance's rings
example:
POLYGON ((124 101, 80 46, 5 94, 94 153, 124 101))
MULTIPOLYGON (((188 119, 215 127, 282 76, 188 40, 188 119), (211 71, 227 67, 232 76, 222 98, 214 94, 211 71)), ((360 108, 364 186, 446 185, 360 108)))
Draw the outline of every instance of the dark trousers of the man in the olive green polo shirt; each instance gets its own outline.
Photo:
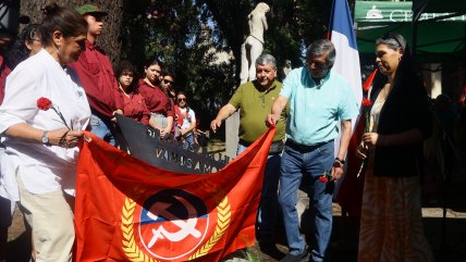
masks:
MULTIPOLYGON (((241 154, 247 147, 237 146, 236 154, 241 154)), ((269 154, 263 172, 262 192, 257 213, 256 227, 261 238, 272 237, 275 230, 275 221, 279 208, 278 189, 280 177, 280 153, 269 154)), ((262 239, 263 240, 263 239, 262 239)))

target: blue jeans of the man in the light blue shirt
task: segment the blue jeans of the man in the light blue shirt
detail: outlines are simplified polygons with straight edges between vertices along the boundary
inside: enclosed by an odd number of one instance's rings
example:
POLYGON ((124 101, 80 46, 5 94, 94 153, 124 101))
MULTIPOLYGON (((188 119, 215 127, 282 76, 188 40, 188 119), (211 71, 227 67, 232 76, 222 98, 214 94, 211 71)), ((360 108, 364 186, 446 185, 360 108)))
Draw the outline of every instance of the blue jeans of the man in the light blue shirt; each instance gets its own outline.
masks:
POLYGON ((299 233, 299 220, 296 212, 297 196, 303 175, 310 176, 309 205, 312 207, 311 257, 314 261, 323 261, 332 233, 332 194, 334 183, 321 183, 319 176, 332 169, 333 142, 297 150, 285 145, 280 176, 279 202, 283 212, 283 222, 290 253, 302 253, 306 244, 299 233))

